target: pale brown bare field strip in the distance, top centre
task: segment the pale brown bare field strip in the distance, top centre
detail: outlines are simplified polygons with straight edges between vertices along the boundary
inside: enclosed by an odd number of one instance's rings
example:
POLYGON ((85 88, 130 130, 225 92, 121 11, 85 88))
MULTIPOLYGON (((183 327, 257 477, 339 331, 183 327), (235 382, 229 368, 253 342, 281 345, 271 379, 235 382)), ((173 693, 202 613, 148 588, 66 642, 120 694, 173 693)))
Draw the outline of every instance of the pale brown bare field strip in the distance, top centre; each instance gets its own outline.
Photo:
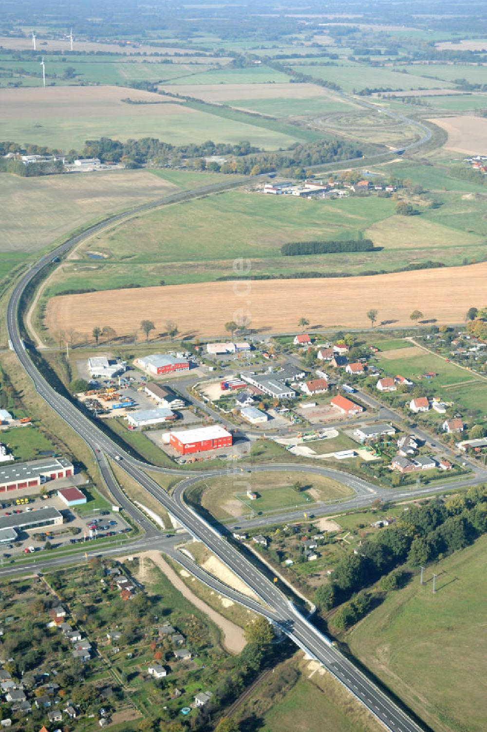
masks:
POLYGON ((277 83, 243 83, 243 84, 171 84, 159 87, 161 91, 171 91, 173 94, 183 94, 196 97, 204 102, 226 102, 238 99, 308 99, 311 97, 325 97, 338 99, 321 86, 313 84, 277 83))

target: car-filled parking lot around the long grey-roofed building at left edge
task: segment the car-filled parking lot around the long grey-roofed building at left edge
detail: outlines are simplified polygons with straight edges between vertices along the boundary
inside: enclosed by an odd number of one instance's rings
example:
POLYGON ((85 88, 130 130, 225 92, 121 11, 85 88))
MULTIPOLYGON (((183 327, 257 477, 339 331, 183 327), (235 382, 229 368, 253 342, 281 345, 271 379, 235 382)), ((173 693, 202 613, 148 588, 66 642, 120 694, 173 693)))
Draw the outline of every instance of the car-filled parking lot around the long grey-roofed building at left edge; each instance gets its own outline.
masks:
MULTIPOLYGON (((59 480, 57 483, 61 483, 59 480)), ((62 488, 56 484, 56 489, 62 488)), ((26 496, 27 498, 27 496, 26 496)), ((49 542, 51 547, 59 548, 63 546, 75 545, 82 542, 92 542, 96 539, 114 537, 118 534, 127 534, 130 531, 129 524, 122 518, 119 512, 112 512, 108 508, 105 510, 89 510, 89 503, 81 505, 83 514, 78 514, 78 507, 67 507, 59 496, 54 493, 53 496, 43 499, 39 495, 28 496, 29 504, 16 504, 15 499, 11 505, 2 504, 0 515, 12 515, 17 512, 34 513, 36 509, 53 507, 58 509, 62 514, 63 523, 56 526, 42 526, 37 529, 29 529, 27 531, 18 531, 18 541, 10 545, 0 545, 0 560, 4 561, 15 559, 15 557, 26 553, 26 549, 33 547, 35 552, 45 550, 45 543, 49 542), (89 529, 89 526, 95 526, 96 529, 89 529), (103 527, 103 528, 102 528, 103 527), (106 527, 106 528, 105 528, 106 527)), ((93 501, 95 504, 95 501, 93 501)))

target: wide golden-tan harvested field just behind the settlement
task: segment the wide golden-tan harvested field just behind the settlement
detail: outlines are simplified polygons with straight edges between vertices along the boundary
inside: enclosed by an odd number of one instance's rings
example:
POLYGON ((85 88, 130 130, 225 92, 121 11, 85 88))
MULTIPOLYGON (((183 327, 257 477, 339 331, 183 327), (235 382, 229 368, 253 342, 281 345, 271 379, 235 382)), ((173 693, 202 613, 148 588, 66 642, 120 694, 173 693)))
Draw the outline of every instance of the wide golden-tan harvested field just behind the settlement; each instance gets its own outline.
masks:
POLYGON ((411 325, 419 309, 438 324, 464 321, 472 302, 485 302, 487 264, 469 267, 394 272, 346 279, 213 282, 62 295, 48 302, 51 332, 75 329, 91 336, 94 326, 110 325, 119 335, 133 334, 141 321, 155 324, 152 335, 176 321, 180 335, 223 336, 225 323, 250 318, 253 329, 293 332, 301 317, 311 328, 370 326, 368 310, 378 311, 377 324, 411 325), (447 294, 447 296, 445 296, 447 294))

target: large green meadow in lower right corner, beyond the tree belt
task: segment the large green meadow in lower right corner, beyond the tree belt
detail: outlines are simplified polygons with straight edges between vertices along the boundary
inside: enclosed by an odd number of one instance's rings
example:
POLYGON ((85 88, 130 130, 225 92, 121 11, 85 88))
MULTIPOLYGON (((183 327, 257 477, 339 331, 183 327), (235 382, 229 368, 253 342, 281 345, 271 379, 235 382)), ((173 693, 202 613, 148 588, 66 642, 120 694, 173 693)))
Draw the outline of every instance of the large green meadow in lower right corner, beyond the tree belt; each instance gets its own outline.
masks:
POLYGON ((348 636, 352 653, 436 732, 486 727, 487 537, 387 595, 348 636), (431 592, 435 572, 436 594, 431 592))

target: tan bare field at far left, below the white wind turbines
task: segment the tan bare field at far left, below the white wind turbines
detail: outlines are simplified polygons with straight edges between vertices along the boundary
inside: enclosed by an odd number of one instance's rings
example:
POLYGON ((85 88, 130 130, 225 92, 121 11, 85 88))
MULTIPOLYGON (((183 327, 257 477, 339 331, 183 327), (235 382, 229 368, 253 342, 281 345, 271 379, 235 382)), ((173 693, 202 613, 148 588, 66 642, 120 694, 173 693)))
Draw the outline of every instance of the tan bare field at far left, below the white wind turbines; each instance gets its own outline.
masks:
MULTIPOLYGON (((130 114, 181 113, 182 105, 174 100, 161 105, 127 105, 122 99, 141 102, 171 100, 150 91, 126 89, 119 86, 48 86, 24 87, 23 89, 0 89, 2 122, 29 119, 33 116, 53 117, 57 120, 86 117, 110 117, 130 114), (135 112, 134 112, 135 111, 135 112)), ((1 129, 1 128, 0 128, 1 129)))

